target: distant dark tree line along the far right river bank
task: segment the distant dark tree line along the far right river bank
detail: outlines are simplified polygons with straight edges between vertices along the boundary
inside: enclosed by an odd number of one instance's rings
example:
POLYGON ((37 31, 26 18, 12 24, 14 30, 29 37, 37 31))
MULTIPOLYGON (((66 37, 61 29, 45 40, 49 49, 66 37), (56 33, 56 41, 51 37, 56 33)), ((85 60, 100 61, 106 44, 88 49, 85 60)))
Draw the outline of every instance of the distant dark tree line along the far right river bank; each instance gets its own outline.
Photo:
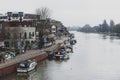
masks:
POLYGON ((86 24, 82 28, 79 28, 78 31, 110 34, 114 33, 118 35, 120 33, 120 24, 115 24, 113 20, 110 20, 110 23, 108 24, 107 21, 104 20, 102 24, 99 24, 98 26, 94 27, 91 27, 89 24, 86 24))

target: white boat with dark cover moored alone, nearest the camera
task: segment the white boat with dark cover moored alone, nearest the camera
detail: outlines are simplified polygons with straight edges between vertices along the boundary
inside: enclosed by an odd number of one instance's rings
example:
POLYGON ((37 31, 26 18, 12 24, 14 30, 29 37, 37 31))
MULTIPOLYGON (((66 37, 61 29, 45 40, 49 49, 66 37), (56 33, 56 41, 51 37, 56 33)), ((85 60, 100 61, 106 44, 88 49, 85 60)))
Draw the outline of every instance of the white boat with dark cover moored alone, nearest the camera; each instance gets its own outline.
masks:
POLYGON ((37 66, 37 62, 33 60, 22 61, 17 68, 17 72, 29 72, 37 66))

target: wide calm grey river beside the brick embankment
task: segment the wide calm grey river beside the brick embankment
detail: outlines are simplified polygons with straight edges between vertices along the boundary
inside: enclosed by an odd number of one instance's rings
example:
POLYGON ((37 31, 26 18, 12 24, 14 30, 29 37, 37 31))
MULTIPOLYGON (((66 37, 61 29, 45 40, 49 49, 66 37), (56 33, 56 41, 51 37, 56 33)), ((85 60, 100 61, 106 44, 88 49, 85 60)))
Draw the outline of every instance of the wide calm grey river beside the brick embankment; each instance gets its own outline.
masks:
POLYGON ((69 60, 45 60, 30 73, 12 73, 0 80, 120 80, 119 37, 73 33, 77 44, 69 60))

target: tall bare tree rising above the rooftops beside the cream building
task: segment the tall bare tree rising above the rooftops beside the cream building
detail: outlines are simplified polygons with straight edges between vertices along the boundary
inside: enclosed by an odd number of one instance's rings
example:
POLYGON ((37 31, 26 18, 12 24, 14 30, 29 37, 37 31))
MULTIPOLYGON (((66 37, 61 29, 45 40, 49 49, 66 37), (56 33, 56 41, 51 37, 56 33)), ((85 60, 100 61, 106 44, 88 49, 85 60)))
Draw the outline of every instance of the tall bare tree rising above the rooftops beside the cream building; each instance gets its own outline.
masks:
POLYGON ((50 25, 50 9, 47 7, 42 7, 36 9, 37 14, 37 26, 36 26, 36 32, 39 33, 39 47, 41 48, 43 46, 43 36, 45 35, 46 27, 50 25))

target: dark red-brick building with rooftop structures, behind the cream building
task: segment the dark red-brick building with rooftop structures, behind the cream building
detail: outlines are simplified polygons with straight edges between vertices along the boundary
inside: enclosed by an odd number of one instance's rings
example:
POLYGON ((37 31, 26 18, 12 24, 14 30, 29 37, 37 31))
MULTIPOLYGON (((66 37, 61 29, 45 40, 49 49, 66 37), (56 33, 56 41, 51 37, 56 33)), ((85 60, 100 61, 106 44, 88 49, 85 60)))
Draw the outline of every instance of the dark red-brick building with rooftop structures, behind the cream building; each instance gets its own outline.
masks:
POLYGON ((0 46, 4 46, 3 45, 4 42, 9 41, 8 39, 6 40, 5 29, 7 28, 23 27, 23 30, 27 29, 27 32, 30 32, 31 29, 34 28, 33 30, 35 34, 35 22, 34 21, 36 19, 37 19, 37 15, 24 14, 23 12, 17 12, 17 13, 7 12, 5 15, 0 15, 0 46))

